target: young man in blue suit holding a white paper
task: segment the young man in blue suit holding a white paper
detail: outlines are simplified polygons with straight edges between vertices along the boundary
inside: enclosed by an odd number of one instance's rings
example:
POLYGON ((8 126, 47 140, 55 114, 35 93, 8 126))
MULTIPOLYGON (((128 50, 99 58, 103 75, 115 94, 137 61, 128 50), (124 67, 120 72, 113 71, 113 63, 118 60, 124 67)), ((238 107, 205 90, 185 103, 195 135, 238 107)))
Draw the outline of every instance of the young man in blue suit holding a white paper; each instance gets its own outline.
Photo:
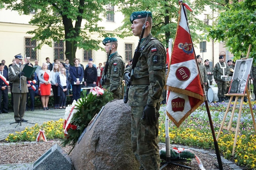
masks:
POLYGON ((82 87, 82 81, 84 76, 84 70, 78 64, 77 58, 73 59, 75 66, 71 67, 70 78, 71 78, 71 85, 72 85, 72 92, 73 92, 73 100, 80 99, 80 92, 82 87))

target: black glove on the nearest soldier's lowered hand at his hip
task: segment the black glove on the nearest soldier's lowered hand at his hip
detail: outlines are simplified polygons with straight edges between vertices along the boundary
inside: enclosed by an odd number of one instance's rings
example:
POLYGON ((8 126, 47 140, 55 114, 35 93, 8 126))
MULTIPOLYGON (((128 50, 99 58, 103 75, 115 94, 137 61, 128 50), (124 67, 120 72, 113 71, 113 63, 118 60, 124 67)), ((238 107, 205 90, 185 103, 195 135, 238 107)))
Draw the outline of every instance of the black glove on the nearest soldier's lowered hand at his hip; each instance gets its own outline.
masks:
POLYGON ((154 125, 156 122, 156 108, 151 105, 146 105, 142 115, 142 119, 145 118, 147 125, 154 125))

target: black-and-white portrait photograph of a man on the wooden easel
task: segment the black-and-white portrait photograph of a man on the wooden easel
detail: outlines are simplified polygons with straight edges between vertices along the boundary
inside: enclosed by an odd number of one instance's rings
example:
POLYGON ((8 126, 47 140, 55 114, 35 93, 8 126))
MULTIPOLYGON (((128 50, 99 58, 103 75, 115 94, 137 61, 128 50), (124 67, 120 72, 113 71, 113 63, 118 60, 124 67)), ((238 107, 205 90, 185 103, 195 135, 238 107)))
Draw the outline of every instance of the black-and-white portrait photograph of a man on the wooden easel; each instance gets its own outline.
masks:
POLYGON ((228 94, 245 94, 253 58, 237 60, 228 94))

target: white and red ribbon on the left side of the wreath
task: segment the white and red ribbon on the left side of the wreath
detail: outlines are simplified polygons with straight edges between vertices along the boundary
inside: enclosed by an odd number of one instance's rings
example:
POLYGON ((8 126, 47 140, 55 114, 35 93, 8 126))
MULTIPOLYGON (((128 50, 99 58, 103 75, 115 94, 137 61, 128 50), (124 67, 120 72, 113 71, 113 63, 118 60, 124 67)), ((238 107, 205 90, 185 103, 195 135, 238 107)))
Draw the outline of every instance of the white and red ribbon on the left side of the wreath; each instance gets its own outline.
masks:
POLYGON ((70 121, 71 121, 73 115, 77 112, 77 109, 74 109, 75 108, 75 103, 76 103, 76 101, 74 100, 71 105, 66 107, 65 122, 63 123, 64 134, 68 134, 67 131, 68 131, 70 121))

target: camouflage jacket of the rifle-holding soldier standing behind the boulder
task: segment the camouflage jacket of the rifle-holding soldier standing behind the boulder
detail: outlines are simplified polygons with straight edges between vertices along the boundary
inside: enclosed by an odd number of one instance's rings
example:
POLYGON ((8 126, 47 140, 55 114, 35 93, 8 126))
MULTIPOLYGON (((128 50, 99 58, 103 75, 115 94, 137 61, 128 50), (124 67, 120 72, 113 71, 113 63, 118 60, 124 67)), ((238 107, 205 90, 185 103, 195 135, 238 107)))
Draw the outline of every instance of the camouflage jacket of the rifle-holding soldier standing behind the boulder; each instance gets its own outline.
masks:
MULTIPOLYGON (((121 84, 122 75, 124 74, 125 63, 122 57, 115 52, 111 58, 109 58, 108 72, 106 73, 104 88, 110 90, 114 94, 114 99, 121 98, 121 84)), ((104 72, 102 73, 104 76, 104 72)))

